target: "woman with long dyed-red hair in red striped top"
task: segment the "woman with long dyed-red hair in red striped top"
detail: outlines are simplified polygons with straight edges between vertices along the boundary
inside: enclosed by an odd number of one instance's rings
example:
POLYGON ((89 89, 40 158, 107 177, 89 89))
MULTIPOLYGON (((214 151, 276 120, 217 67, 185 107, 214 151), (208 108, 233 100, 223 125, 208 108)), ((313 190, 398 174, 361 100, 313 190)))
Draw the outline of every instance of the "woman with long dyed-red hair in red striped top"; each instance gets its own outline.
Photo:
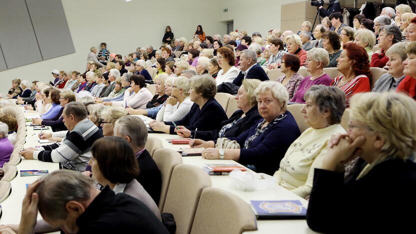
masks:
POLYGON ((358 92, 370 91, 371 71, 368 63, 368 54, 364 48, 356 43, 346 43, 339 55, 336 69, 343 75, 336 76, 331 86, 339 87, 345 93, 346 106, 349 99, 358 92))

